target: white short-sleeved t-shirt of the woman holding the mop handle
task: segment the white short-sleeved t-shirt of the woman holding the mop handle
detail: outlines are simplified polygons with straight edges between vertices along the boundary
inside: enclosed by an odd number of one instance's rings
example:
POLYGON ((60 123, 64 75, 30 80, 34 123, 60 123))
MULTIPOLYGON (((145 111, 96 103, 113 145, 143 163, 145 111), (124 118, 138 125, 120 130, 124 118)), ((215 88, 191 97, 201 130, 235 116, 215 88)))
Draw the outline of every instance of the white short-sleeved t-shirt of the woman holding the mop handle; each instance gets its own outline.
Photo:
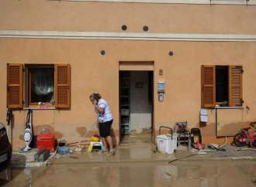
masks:
POLYGON ((96 108, 94 109, 100 123, 111 121, 113 119, 112 114, 110 112, 109 104, 106 102, 106 100, 100 99, 97 106, 105 108, 105 112, 103 114, 100 114, 96 108))

